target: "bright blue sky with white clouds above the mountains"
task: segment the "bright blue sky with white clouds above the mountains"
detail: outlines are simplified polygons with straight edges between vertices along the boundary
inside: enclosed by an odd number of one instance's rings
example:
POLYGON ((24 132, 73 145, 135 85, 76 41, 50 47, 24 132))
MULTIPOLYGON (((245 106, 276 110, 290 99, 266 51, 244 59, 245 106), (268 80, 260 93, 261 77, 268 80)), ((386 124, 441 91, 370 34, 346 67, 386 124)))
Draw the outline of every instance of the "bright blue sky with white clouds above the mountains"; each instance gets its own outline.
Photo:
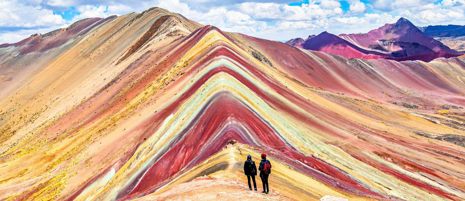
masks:
POLYGON ((465 24, 465 0, 1 0, 0 44, 89 17, 159 6, 223 31, 287 40, 327 31, 368 32, 400 17, 417 26, 465 24))

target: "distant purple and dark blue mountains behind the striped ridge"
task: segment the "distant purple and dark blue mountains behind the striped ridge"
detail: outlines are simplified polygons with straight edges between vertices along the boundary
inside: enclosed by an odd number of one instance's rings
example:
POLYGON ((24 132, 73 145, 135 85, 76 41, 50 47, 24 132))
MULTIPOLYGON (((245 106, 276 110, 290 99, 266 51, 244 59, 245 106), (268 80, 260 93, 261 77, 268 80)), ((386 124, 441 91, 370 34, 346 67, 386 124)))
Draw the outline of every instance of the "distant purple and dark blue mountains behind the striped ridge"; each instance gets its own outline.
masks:
POLYGON ((455 57, 460 53, 425 34, 435 32, 451 35, 463 26, 417 27, 408 19, 400 18, 394 24, 374 29, 368 33, 340 34, 328 32, 311 35, 307 39, 290 39, 288 45, 307 50, 343 55, 347 58, 385 58, 397 61, 418 59, 425 62, 438 57, 455 57), (441 53, 438 53, 441 52, 441 53), (417 55, 417 56, 416 56, 417 55), (413 57, 415 56, 415 57, 413 57))

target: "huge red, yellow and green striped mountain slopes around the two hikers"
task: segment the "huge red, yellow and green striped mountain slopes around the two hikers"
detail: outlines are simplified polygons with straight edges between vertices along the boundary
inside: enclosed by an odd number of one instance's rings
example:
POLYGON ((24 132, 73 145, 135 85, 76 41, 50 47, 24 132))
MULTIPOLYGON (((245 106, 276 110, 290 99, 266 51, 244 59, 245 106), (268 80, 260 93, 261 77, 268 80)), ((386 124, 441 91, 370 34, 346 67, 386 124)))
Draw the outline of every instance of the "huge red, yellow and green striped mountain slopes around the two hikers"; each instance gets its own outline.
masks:
POLYGON ((0 59, 0 200, 465 199, 464 58, 346 59, 151 8, 0 59), (261 153, 266 196, 242 167, 261 153))

